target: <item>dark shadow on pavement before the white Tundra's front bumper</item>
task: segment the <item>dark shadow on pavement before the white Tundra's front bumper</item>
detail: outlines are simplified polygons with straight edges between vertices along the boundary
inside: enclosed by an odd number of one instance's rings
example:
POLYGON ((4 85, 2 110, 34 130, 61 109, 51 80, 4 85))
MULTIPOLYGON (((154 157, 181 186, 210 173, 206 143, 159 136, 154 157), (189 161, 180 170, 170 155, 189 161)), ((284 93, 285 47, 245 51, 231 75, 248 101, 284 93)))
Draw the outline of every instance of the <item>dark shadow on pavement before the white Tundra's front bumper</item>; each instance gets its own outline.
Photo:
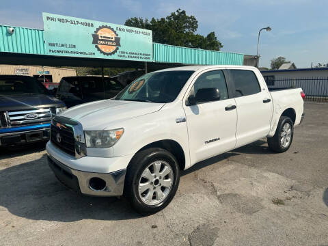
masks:
POLYGON ((18 217, 64 222, 141 217, 124 200, 87 197, 69 191, 55 178, 46 154, 38 160, 1 170, 0 180, 0 206, 18 217))

